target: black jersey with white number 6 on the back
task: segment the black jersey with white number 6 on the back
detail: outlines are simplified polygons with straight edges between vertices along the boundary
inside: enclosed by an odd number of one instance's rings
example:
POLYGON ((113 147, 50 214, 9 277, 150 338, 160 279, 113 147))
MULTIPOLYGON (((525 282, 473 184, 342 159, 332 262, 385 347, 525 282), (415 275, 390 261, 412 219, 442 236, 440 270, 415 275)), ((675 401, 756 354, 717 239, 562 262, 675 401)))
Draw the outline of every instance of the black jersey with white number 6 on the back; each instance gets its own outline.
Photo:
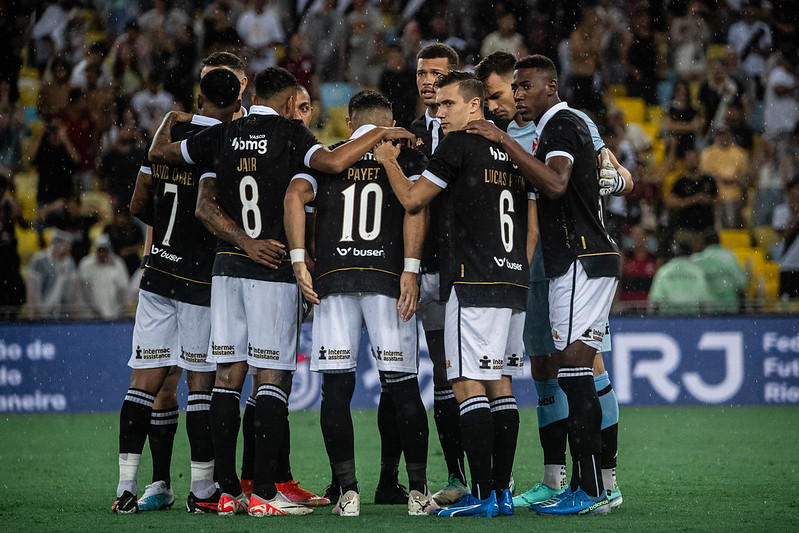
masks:
POLYGON ((441 299, 448 299, 454 286, 465 307, 523 310, 532 189, 508 154, 484 137, 454 131, 441 141, 422 176, 444 187, 441 299))

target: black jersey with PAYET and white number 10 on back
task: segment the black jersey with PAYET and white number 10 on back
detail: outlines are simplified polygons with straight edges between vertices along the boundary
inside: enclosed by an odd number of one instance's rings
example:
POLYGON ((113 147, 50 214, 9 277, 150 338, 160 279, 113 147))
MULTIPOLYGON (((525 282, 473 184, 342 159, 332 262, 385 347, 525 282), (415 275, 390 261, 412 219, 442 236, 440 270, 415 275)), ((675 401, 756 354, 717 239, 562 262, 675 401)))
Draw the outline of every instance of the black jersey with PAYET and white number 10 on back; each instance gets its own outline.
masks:
MULTIPOLYGON (((424 154, 408 148, 397 161, 409 178, 427 165, 424 154)), ((376 292, 398 298, 405 209, 383 165, 370 151, 341 174, 317 173, 316 181, 317 294, 376 292)))

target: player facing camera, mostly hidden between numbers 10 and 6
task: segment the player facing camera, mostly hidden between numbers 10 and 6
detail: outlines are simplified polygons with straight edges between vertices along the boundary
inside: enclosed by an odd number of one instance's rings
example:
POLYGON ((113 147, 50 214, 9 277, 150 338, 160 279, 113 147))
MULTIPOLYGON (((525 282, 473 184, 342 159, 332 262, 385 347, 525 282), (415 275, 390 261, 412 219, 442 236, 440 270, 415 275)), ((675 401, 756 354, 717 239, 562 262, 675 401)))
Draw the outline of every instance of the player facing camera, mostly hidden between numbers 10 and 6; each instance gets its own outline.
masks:
MULTIPOLYGON (((441 122, 436 118, 435 83, 448 72, 458 67, 458 52, 442 43, 433 43, 416 54, 416 88, 424 103, 425 111, 411 123, 411 133, 416 135, 417 147, 428 157, 444 137, 441 122)), ((466 472, 463 468, 463 447, 458 427, 458 401, 452 393, 452 384, 447 379, 444 358, 444 307, 439 297, 438 260, 438 211, 440 199, 429 206, 430 224, 422 254, 422 286, 419 308, 416 314, 422 321, 427 349, 433 362, 433 417, 436 421, 438 439, 447 464, 447 483, 433 498, 439 505, 449 505, 469 492, 466 472)))

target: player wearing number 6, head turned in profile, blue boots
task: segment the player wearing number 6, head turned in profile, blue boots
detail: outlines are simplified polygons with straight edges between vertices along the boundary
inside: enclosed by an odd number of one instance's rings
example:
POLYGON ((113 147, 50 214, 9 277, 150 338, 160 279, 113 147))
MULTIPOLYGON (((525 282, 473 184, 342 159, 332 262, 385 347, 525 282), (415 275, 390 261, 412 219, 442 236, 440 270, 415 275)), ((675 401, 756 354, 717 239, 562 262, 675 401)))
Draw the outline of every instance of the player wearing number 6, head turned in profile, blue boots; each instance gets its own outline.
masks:
POLYGON ((395 146, 375 149, 406 210, 416 212, 442 195, 447 377, 460 404, 472 487, 458 502, 438 509, 438 516, 513 514, 508 485, 519 414, 511 376, 524 368, 532 190, 498 144, 464 131, 468 122, 483 118, 483 91, 465 72, 437 82, 437 116, 446 136, 418 180, 405 178, 395 146))

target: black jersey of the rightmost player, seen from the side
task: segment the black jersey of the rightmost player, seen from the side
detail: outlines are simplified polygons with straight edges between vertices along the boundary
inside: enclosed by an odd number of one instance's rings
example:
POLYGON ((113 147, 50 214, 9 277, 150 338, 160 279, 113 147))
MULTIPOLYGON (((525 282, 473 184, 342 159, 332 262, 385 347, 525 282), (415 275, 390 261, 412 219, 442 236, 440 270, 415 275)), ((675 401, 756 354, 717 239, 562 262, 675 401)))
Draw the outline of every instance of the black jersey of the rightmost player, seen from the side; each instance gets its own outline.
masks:
POLYGON ((588 277, 618 277, 619 249, 602 219, 598 162, 585 121, 565 103, 544 113, 537 125, 535 156, 560 155, 572 159, 566 193, 560 198, 538 196, 538 224, 548 278, 566 273, 579 260, 588 277))

